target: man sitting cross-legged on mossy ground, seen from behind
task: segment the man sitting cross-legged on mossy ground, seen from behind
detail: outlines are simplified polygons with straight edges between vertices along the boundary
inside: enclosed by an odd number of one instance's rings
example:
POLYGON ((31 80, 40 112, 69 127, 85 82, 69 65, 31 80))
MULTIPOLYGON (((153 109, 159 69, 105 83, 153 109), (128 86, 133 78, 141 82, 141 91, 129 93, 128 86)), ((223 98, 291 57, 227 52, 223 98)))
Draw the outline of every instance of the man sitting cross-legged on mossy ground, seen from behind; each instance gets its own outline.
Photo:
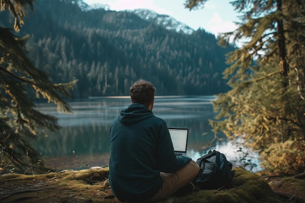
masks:
POLYGON ((199 166, 175 156, 166 122, 153 115, 155 88, 140 79, 130 88, 132 104, 110 127, 109 182, 121 202, 159 202, 194 187, 199 166))

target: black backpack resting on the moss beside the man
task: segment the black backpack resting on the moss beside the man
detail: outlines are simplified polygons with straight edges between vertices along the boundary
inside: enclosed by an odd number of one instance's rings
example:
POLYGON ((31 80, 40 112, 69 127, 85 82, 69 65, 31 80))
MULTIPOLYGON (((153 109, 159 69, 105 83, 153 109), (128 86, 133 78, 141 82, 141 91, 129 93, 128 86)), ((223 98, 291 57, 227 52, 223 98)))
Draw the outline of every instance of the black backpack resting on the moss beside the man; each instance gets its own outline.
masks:
POLYGON ((232 187, 232 164, 219 151, 209 151, 197 159, 200 166, 197 177, 192 181, 199 189, 228 189, 232 187))

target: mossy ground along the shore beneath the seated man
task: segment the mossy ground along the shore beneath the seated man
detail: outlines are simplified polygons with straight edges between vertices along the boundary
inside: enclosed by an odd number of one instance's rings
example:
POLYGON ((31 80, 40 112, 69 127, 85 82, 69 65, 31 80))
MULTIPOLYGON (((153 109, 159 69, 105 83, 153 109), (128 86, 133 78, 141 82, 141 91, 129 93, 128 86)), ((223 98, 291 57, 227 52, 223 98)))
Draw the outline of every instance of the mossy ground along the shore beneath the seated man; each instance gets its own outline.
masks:
MULTIPOLYGON (((196 190, 170 197, 162 203, 305 203, 305 180, 286 178, 267 183, 242 168, 233 168, 234 187, 228 190, 196 190), (272 190, 273 189, 273 190, 272 190), (290 199, 281 192, 289 191, 290 199)), ((66 170, 42 175, 0 176, 1 203, 119 203, 108 182, 109 168, 66 170)), ((287 193, 286 193, 287 194, 287 193)))

